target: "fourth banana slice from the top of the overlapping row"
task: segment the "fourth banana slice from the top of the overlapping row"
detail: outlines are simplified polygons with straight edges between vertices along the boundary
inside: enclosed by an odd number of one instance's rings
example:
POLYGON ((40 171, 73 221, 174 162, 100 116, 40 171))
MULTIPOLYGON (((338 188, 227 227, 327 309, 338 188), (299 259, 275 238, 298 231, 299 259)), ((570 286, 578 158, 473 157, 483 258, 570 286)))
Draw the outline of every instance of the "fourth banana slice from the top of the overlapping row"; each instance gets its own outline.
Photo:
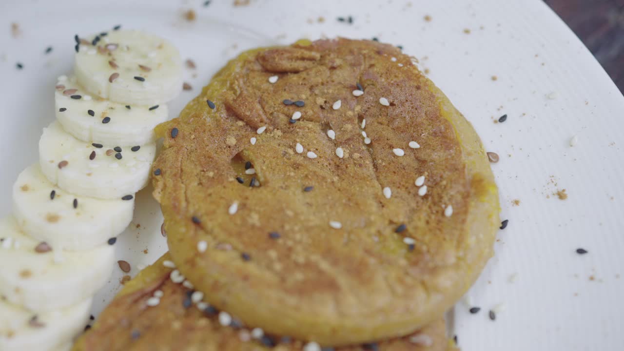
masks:
POLYGON ((21 172, 13 184, 13 214, 19 227, 54 249, 87 250, 105 244, 130 224, 133 210, 134 199, 69 194, 51 184, 39 164, 21 172))

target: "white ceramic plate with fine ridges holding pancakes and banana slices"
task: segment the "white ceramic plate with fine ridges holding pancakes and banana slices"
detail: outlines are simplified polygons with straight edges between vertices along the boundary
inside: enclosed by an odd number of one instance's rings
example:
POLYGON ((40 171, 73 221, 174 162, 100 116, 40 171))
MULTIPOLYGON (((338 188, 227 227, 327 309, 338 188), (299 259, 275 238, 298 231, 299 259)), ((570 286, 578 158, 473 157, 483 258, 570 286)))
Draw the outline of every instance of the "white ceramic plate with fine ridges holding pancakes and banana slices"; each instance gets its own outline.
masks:
MULTIPOLYGON (((185 81, 193 91, 170 104, 170 117, 243 49, 300 37, 378 37, 416 56, 487 150, 500 155, 492 168, 509 227, 499 232, 496 256, 467 295, 470 306, 482 310, 472 315, 459 303, 452 313, 452 333, 462 349, 622 350, 624 98, 545 4, 203 2, 2 1, 0 214, 11 211, 9 190, 17 174, 37 160, 41 129, 54 119, 51 87, 71 70, 76 33, 115 24, 146 29, 192 58, 197 70, 185 71, 185 81), (195 10, 194 22, 183 19, 187 9, 195 10), (348 16, 353 24, 337 20, 348 16), (21 29, 18 37, 11 35, 12 22, 21 29), (47 46, 53 51, 46 55, 47 46), (16 62, 24 68, 17 70, 16 62), (494 123, 503 114, 507 121, 494 123), (577 144, 571 147, 573 136, 577 144), (568 198, 560 200, 555 193, 563 189, 568 198), (578 255, 579 247, 589 253, 578 255), (491 321, 487 312, 497 306, 491 321)), ((133 276, 166 250, 161 222, 150 190, 143 190, 134 222, 117 242, 117 255, 130 262, 133 276)), ((120 277, 115 269, 94 313, 119 290, 120 277)))

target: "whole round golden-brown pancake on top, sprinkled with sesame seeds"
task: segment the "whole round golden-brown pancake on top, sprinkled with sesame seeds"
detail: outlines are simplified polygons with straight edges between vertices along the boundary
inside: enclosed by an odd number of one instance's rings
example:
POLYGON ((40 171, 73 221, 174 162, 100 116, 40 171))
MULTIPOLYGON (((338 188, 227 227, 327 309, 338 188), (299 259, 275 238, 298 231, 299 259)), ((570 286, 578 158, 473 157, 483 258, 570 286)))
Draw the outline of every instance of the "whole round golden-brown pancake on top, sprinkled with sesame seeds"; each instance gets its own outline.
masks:
POLYGON ((170 253, 245 324, 324 345, 407 335, 492 255, 499 200, 479 136, 396 47, 336 39, 245 52, 156 130, 170 253))

